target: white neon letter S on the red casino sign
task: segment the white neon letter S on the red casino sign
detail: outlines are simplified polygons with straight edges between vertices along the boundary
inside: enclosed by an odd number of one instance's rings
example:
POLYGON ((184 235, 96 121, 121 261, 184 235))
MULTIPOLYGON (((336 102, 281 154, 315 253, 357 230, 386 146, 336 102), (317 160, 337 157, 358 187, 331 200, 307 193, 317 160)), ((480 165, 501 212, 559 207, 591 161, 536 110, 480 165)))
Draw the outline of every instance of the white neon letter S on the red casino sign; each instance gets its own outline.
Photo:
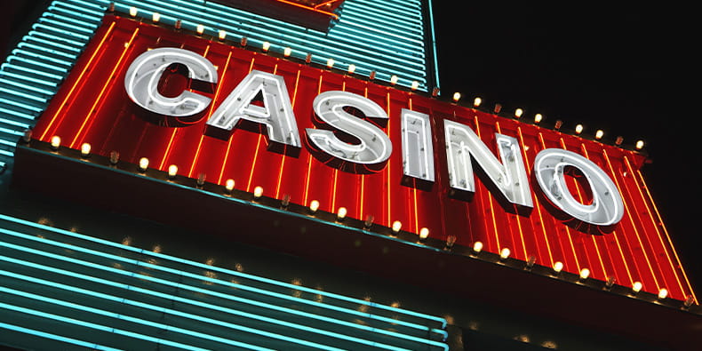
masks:
POLYGON ((324 153, 354 164, 381 164, 393 152, 387 134, 379 127, 351 115, 344 108, 357 108, 366 117, 387 119, 387 114, 375 102, 351 92, 323 92, 315 98, 313 108, 319 118, 331 127, 359 140, 349 144, 339 140, 334 132, 307 129, 307 137, 324 153))

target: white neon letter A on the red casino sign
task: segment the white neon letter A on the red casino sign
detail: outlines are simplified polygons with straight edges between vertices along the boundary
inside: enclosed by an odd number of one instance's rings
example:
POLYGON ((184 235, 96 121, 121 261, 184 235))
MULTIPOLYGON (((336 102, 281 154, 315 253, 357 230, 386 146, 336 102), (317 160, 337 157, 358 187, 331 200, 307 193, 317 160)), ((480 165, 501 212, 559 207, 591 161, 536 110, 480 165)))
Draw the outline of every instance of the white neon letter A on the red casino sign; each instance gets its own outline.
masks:
POLYGON ((298 125, 282 76, 252 70, 214 111, 207 125, 229 132, 240 120, 266 125, 270 141, 300 147, 298 125), (252 103, 259 95, 263 106, 252 103))

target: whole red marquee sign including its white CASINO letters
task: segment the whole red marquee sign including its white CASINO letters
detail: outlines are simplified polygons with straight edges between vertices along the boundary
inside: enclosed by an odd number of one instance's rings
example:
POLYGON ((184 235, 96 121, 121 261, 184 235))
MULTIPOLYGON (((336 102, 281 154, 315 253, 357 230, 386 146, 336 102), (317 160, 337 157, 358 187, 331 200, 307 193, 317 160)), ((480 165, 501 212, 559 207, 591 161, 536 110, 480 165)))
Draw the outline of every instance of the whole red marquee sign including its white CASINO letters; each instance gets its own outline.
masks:
POLYGON ((107 16, 33 135, 691 294, 643 156, 217 38, 107 16))

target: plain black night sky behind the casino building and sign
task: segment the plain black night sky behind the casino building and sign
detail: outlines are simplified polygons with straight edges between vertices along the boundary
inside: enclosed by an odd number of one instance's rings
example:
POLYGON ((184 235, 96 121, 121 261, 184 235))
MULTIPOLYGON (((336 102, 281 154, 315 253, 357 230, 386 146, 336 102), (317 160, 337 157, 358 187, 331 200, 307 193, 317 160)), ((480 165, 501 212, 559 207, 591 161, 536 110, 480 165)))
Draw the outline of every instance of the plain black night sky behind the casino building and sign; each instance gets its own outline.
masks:
MULTIPOLYGON (((26 34, 46 3, 0 3, 0 48, 26 34)), ((560 119, 565 131, 602 129, 609 142, 645 140, 652 164, 643 175, 699 291, 702 117, 692 62, 698 40, 682 16, 690 10, 530 3, 434 0, 443 94, 541 113, 545 125, 560 119)))

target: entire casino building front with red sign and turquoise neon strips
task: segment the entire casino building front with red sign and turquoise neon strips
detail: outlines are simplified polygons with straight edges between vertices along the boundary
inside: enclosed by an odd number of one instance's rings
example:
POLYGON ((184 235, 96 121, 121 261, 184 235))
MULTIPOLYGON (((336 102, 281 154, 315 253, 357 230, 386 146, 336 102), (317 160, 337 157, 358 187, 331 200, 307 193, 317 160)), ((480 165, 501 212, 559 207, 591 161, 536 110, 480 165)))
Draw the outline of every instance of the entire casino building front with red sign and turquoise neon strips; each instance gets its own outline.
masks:
POLYGON ((0 71, 0 341, 698 342, 645 156, 437 96, 432 17, 419 0, 47 4, 0 71))

